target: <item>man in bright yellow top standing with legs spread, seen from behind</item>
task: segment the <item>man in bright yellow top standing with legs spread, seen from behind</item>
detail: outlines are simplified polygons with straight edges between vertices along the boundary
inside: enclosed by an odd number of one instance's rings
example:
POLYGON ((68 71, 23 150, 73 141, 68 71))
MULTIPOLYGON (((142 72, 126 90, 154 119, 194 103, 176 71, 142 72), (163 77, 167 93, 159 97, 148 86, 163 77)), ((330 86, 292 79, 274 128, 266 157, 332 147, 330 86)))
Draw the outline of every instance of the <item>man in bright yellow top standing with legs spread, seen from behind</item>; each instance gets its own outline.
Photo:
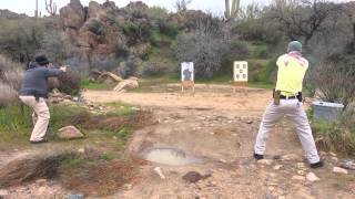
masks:
POLYGON ((278 57, 277 83, 274 101, 267 106, 254 146, 254 158, 264 158, 266 139, 276 123, 284 116, 296 127, 296 132, 311 164, 311 168, 323 167, 314 143, 307 116, 302 108, 302 84, 308 69, 308 61, 302 56, 302 44, 293 41, 287 54, 278 57))

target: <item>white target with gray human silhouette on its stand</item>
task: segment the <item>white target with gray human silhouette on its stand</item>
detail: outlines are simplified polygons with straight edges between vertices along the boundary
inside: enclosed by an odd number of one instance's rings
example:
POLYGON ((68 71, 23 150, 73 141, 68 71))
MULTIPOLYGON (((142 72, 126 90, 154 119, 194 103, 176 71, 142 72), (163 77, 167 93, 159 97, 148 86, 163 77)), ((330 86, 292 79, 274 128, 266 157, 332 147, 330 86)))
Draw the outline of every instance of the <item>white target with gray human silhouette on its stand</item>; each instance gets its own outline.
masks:
POLYGON ((181 63, 181 92, 192 88, 192 92, 195 93, 194 77, 193 62, 181 63))

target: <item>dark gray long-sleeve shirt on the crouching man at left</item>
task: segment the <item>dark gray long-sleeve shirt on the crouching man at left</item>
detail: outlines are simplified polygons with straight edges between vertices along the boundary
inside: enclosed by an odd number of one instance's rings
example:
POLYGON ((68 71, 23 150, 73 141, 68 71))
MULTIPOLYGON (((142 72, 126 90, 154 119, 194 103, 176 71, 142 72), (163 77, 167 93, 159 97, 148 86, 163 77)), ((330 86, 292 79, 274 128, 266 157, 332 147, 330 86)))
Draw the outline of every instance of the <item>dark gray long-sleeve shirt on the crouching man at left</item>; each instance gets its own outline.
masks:
MULTIPOLYGON (((34 63, 31 63, 34 64, 34 63)), ((34 66, 24 72, 20 95, 29 95, 37 92, 41 96, 48 94, 48 77, 58 76, 63 73, 58 69, 47 69, 43 66, 34 66)))

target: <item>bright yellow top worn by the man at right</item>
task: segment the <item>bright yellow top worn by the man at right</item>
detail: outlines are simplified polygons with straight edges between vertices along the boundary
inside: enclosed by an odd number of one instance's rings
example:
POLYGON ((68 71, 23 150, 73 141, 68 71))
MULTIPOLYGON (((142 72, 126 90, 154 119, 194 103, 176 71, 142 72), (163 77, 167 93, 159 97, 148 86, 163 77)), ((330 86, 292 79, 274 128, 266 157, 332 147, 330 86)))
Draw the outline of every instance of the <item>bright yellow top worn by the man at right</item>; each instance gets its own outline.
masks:
POLYGON ((295 52, 284 54, 276 62, 278 66, 276 90, 282 95, 295 96, 302 92, 308 61, 295 52))

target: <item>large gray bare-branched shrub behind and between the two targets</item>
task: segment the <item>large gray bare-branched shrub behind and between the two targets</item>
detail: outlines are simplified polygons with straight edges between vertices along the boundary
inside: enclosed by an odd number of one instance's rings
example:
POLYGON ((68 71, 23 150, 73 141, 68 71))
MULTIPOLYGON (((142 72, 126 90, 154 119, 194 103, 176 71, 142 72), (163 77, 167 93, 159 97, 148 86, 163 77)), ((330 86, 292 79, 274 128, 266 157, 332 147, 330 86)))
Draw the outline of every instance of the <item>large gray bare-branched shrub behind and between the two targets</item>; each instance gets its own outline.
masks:
POLYGON ((212 77, 221 70, 230 52, 227 25, 217 18, 206 15, 195 27, 195 31, 178 35, 176 57, 180 62, 194 62, 197 77, 212 77))

